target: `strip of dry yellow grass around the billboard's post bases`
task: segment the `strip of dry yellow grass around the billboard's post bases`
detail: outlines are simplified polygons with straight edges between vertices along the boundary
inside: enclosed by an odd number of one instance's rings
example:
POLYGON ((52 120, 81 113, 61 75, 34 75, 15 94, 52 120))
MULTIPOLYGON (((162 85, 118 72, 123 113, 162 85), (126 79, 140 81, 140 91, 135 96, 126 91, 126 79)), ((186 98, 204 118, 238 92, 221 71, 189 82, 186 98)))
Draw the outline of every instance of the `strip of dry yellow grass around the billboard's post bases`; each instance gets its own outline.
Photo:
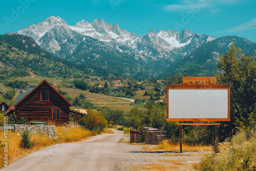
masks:
MULTIPOLYGON (((187 145, 182 144, 183 152, 198 152, 198 151, 210 151, 212 149, 211 146, 203 146, 203 145, 187 145)), ((155 151, 163 151, 163 152, 180 152, 180 144, 168 143, 168 140, 162 141, 159 145, 155 147, 142 147, 141 151, 143 152, 155 152, 155 151)))

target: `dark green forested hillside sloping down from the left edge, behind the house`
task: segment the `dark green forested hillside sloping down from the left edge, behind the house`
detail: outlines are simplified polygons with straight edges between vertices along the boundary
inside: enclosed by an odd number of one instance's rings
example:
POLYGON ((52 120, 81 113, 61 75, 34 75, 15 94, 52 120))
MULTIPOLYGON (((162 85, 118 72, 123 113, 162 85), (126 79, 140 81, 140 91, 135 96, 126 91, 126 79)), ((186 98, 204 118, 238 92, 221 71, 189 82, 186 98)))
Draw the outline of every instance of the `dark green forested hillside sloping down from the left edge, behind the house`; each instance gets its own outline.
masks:
POLYGON ((0 81, 27 75, 80 78, 89 71, 82 65, 61 60, 18 34, 0 36, 0 81))

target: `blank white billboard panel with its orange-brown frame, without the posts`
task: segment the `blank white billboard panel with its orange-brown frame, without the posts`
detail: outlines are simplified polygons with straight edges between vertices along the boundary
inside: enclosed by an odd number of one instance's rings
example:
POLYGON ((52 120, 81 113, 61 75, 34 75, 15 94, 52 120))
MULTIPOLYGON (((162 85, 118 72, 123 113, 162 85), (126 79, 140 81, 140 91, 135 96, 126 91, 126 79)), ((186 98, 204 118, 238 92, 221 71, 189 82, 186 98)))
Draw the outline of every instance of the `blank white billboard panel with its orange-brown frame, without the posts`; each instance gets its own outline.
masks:
POLYGON ((167 85, 167 121, 230 121, 229 85, 167 85))

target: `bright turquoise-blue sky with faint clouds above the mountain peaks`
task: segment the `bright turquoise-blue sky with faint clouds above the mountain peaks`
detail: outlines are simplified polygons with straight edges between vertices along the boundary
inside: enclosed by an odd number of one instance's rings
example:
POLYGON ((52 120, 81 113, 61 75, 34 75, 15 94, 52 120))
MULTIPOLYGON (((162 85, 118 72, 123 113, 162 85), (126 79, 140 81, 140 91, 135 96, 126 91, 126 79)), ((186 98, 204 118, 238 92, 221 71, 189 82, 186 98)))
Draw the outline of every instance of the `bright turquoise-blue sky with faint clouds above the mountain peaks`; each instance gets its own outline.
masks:
POLYGON ((144 35, 183 29, 212 37, 237 35, 256 42, 255 0, 0 0, 0 34, 44 22, 52 15, 74 26, 96 18, 144 35))

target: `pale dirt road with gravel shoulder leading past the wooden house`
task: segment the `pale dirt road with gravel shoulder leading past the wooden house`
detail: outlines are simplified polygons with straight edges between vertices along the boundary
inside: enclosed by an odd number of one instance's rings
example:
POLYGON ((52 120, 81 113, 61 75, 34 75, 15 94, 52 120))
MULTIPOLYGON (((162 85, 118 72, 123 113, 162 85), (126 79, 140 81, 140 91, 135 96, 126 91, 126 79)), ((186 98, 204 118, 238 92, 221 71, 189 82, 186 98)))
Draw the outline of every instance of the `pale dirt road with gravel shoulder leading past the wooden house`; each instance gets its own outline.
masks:
POLYGON ((141 152, 143 145, 128 140, 122 131, 89 140, 53 145, 32 153, 3 170, 194 170, 200 153, 141 152))

